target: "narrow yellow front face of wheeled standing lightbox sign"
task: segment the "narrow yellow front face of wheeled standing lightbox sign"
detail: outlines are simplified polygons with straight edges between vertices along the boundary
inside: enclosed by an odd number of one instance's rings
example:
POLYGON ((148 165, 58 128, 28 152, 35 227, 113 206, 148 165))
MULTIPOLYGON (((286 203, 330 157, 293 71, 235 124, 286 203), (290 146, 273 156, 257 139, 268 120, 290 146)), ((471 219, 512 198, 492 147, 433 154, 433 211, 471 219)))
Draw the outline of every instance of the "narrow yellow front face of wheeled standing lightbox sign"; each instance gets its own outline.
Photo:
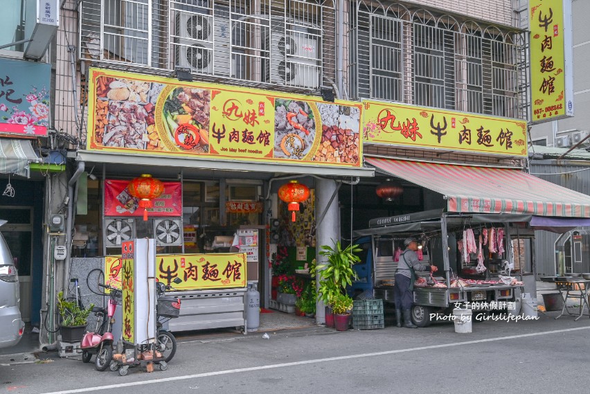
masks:
POLYGON ((134 241, 121 245, 121 285, 123 288, 123 341, 135 344, 134 241))

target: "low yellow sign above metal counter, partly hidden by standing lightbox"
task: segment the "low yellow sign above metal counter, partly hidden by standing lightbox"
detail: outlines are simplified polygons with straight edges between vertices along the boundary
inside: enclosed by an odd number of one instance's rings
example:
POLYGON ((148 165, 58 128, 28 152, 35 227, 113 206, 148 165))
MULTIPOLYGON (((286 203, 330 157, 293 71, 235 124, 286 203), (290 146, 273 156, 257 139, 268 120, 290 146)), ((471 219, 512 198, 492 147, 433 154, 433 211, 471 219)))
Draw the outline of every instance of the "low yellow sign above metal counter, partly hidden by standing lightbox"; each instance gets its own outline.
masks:
MULTIPOLYGON (((121 256, 105 257, 107 285, 121 288, 123 263, 121 256)), ((246 287, 246 253, 157 255, 156 278, 176 290, 246 287), (176 278, 181 283, 173 282, 176 278)))

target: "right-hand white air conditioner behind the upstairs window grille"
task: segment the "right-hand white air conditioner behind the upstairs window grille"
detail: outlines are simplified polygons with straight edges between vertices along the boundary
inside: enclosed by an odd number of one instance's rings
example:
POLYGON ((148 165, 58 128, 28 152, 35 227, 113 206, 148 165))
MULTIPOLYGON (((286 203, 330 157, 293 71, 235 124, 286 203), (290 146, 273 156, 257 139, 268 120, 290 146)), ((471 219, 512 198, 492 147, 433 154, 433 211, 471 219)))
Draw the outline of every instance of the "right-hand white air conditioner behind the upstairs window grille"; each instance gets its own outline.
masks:
POLYGON ((317 40, 299 31, 277 33, 283 29, 283 21, 273 21, 272 25, 267 37, 271 56, 267 80, 294 87, 319 87, 321 53, 317 40))

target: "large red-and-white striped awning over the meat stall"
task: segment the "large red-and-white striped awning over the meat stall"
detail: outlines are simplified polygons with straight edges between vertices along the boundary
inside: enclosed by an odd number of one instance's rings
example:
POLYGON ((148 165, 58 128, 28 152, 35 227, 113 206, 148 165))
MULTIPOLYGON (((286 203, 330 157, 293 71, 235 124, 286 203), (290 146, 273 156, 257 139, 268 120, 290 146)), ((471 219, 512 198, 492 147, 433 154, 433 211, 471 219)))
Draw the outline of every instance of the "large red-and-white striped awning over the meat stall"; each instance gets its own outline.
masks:
POLYGON ((370 165, 447 199, 449 212, 590 217, 590 196, 520 170, 365 157, 370 165))

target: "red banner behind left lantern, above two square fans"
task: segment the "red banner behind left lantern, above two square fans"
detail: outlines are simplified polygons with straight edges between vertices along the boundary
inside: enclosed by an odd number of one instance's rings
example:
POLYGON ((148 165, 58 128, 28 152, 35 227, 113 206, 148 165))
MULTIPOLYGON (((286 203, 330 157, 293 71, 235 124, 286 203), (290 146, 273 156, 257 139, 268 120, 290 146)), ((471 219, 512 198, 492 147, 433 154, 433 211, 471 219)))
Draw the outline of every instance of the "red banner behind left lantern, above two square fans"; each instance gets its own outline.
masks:
MULTIPOLYGON (((150 216, 181 216, 182 187, 180 182, 163 182, 164 192, 147 208, 150 216)), ((139 199, 127 190, 129 181, 105 180, 105 216, 141 216, 139 199)))

